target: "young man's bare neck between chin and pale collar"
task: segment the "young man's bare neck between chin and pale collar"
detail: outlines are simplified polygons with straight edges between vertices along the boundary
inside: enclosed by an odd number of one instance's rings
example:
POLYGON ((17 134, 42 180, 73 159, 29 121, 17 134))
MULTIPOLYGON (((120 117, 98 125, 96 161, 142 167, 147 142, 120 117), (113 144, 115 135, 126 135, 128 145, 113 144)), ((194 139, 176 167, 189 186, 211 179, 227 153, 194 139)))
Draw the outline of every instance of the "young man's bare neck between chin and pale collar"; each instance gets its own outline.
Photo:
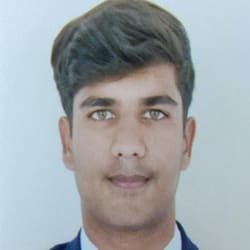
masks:
POLYGON ((100 223, 83 211, 83 225, 88 238, 99 250, 162 250, 174 236, 174 209, 159 223, 138 230, 122 230, 100 223))

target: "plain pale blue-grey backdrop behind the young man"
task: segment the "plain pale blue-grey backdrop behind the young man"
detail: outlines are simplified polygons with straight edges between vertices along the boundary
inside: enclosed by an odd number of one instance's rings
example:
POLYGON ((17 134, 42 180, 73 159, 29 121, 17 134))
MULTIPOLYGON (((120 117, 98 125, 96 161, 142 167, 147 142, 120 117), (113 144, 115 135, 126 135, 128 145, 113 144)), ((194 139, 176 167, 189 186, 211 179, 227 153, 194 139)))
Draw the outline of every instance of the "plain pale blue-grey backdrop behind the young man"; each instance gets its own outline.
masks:
MULTIPOLYGON (((0 0, 1 250, 46 250, 80 227, 49 61, 62 26, 98 2, 0 0)), ((250 249, 250 2, 157 3, 185 24, 196 68, 198 128, 177 218, 202 250, 250 249)))

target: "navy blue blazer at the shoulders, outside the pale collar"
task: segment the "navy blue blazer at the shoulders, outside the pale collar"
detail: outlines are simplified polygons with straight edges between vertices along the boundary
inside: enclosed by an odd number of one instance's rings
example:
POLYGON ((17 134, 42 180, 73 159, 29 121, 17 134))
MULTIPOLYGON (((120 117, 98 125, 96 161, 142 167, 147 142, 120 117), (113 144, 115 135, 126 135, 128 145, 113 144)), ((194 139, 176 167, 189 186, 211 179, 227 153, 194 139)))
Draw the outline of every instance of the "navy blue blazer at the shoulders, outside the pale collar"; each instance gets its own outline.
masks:
MULTIPOLYGON (((181 233, 181 241, 182 241, 181 249, 182 250, 198 250, 198 247, 195 246, 186 235, 182 225, 179 222, 177 222, 177 225, 181 233)), ((54 246, 50 250, 88 250, 88 249, 84 249, 84 247, 83 249, 81 249, 80 232, 81 231, 79 231, 78 235, 76 236, 74 240, 64 243, 64 244, 54 246)))

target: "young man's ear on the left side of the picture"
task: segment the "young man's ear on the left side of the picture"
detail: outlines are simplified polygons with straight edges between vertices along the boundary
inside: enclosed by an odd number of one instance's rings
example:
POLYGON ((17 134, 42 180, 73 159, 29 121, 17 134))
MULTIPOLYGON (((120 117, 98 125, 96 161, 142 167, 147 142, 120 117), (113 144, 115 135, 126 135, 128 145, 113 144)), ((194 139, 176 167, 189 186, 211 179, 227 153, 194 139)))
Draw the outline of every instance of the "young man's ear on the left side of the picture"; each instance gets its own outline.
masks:
POLYGON ((62 158, 65 166, 74 170, 74 161, 73 161, 73 153, 72 153, 72 138, 71 138, 71 129, 70 123, 67 117, 61 117, 59 119, 59 132, 61 137, 62 144, 62 158))

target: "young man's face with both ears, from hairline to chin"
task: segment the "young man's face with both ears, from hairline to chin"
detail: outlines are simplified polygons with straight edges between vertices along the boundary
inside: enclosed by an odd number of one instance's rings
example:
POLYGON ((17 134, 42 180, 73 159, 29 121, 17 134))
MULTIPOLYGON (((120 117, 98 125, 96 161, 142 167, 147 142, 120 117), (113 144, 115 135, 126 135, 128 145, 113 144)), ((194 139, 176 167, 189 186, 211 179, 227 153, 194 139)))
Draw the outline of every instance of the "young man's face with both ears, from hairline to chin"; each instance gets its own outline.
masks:
POLYGON ((85 217, 117 229, 174 218, 178 178, 195 130, 193 119, 183 125, 182 110, 175 70, 167 64, 76 94, 72 136, 66 118, 59 125, 85 217))

